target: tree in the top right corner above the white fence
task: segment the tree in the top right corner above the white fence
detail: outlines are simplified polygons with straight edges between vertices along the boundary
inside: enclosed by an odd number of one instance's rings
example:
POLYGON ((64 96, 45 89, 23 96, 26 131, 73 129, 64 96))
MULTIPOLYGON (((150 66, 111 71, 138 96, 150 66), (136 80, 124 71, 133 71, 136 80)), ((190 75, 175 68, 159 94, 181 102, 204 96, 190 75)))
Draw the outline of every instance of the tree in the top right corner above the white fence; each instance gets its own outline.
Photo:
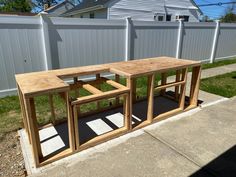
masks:
POLYGON ((225 11, 225 15, 221 17, 221 22, 236 23, 236 5, 232 3, 225 11))

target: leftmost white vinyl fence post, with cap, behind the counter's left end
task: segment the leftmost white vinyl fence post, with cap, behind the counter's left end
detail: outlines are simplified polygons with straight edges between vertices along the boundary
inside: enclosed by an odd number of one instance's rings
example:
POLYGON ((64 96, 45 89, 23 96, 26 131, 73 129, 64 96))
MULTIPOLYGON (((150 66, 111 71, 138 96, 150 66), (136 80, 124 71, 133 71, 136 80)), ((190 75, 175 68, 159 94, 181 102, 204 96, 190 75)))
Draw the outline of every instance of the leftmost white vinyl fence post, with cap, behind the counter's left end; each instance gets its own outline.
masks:
POLYGON ((44 51, 45 70, 47 71, 52 69, 52 55, 51 55, 47 15, 45 13, 40 13, 40 20, 42 24, 42 45, 44 51))

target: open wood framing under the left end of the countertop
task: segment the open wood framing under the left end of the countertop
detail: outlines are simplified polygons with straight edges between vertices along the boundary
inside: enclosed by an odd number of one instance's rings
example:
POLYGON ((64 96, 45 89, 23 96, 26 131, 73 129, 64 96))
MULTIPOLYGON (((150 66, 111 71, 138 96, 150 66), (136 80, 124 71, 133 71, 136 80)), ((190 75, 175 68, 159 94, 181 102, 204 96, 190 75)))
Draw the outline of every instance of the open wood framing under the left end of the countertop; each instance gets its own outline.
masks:
MULTIPOLYGON (((68 135, 69 135, 69 148, 66 150, 63 150, 62 152, 58 153, 57 155, 53 157, 43 157, 42 155, 42 149, 41 149, 41 144, 40 144, 40 138, 39 138, 39 130, 40 128, 38 127, 37 123, 37 117, 36 117, 36 109, 35 109, 35 101, 34 97, 25 97, 21 89, 18 87, 18 95, 20 98, 20 103, 21 103, 21 110, 22 110, 22 116, 23 116, 23 122, 24 122, 24 127, 26 129, 26 133, 29 138, 29 142, 32 147, 32 152, 33 152, 33 158, 35 161, 36 167, 40 167, 46 164, 49 164, 57 159, 60 159, 62 157, 70 155, 72 152, 75 151, 75 142, 74 142, 74 123, 73 123, 73 117, 71 115, 71 110, 70 110, 70 103, 69 103, 69 97, 68 97, 68 92, 62 92, 60 93, 66 101, 66 108, 67 108, 67 120, 68 120, 68 135)), ((49 106, 51 109, 52 116, 54 116, 55 121, 55 112, 54 112, 54 106, 53 106, 53 95, 49 94, 49 106)))

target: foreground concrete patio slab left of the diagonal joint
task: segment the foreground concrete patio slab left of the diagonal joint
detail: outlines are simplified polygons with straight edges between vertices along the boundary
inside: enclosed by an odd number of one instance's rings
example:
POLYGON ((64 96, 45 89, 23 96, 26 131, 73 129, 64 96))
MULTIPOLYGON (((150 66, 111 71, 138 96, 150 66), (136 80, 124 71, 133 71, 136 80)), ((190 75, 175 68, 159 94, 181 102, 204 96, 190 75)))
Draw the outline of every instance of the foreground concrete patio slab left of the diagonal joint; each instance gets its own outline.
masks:
MULTIPOLYGON (((57 166, 39 176, 70 177, 181 177, 200 168, 148 134, 131 138, 84 161, 57 166)), ((205 172, 201 175, 207 176, 205 172)))

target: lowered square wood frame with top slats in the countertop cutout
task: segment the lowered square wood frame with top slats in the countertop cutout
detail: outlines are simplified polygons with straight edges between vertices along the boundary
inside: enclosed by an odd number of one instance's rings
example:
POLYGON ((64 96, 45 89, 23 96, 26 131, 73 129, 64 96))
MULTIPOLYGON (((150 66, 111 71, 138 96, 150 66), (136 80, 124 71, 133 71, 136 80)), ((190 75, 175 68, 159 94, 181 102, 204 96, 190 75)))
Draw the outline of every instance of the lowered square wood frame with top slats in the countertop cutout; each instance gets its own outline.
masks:
MULTIPOLYGON (((97 78, 99 79, 99 78, 97 78)), ((102 78, 103 81, 105 81, 107 84, 113 86, 116 88, 116 90, 113 91, 107 91, 102 92, 101 90, 98 90, 94 86, 87 84, 86 82, 83 83, 82 87, 92 93, 92 95, 84 96, 81 98, 77 98, 74 100, 71 105, 73 109, 73 117, 74 117, 74 129, 75 129, 75 143, 76 143, 76 151, 81 151, 83 149, 86 149, 88 147, 94 146, 96 144, 99 144, 101 142, 107 141, 111 138, 120 136, 121 134, 124 134, 128 130, 130 130, 130 108, 129 108, 129 102, 130 102, 130 93, 129 89, 115 81, 108 80, 106 78, 102 78), (79 138, 79 128, 78 128, 78 118, 80 115, 78 115, 77 108, 81 106, 81 104, 86 104, 89 102, 99 101, 101 99, 108 99, 108 98, 118 98, 120 96, 123 96, 123 114, 124 114, 124 127, 121 127, 117 130, 105 133, 103 135, 99 135, 88 142, 81 144, 80 138, 79 138)))

